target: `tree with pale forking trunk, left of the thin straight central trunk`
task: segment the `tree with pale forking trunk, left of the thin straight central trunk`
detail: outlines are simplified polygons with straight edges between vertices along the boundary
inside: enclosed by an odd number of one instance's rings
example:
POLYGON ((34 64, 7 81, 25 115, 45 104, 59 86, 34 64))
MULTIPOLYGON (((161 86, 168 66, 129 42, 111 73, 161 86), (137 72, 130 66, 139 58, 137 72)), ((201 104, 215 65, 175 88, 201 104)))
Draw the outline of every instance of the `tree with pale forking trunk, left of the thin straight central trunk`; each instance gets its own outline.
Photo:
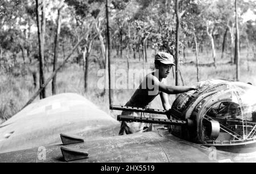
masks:
POLYGON ((92 51, 93 41, 100 39, 102 55, 105 57, 104 37, 102 36, 102 20, 104 20, 104 1, 82 1, 66 0, 73 9, 73 18, 76 20, 75 33, 77 38, 84 35, 84 39, 79 46, 84 61, 84 90, 88 91, 89 57, 92 51), (90 31, 90 32, 87 32, 90 31))

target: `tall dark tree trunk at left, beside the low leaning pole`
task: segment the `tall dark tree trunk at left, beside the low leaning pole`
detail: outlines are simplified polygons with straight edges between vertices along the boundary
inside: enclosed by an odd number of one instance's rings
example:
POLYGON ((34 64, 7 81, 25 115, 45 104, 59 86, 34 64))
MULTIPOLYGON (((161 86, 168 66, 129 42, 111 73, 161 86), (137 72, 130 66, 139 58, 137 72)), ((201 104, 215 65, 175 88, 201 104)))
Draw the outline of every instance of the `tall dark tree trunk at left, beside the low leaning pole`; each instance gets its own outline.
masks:
POLYGON ((44 99, 46 97, 46 89, 44 88, 44 34, 46 29, 46 1, 42 0, 42 19, 40 19, 38 0, 36 0, 36 20, 38 24, 38 40, 39 40, 39 74, 40 74, 40 88, 42 91, 40 92, 40 99, 44 99), (42 20, 42 23, 41 21, 42 20))

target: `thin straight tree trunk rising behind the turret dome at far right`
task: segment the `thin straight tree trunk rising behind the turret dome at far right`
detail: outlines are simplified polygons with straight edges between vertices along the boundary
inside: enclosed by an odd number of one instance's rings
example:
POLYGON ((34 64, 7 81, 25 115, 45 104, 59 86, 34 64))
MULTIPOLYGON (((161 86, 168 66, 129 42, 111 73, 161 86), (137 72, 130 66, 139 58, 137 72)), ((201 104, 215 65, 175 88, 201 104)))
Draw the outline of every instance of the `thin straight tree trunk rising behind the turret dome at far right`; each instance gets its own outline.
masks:
POLYGON ((239 50, 239 43, 240 43, 240 36, 239 36, 239 26, 238 26, 238 14, 237 14, 237 0, 235 0, 235 12, 236 12, 236 45, 235 45, 235 63, 236 63, 236 79, 237 81, 240 80, 240 50, 239 50))

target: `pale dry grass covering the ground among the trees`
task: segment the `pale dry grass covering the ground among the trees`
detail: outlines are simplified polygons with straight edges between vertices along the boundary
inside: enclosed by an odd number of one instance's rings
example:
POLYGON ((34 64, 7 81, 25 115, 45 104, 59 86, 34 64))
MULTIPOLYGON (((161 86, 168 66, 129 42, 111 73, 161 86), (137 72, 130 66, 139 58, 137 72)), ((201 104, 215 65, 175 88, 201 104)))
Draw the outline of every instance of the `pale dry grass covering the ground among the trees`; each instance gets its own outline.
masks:
MULTIPOLYGON (((255 67, 256 61, 254 61, 253 53, 249 55, 249 62, 247 62, 246 52, 241 52, 241 65, 240 65, 240 81, 241 82, 251 82, 256 84, 255 78, 255 67), (248 70, 249 67, 249 70, 248 70)), ((132 54, 123 53, 123 55, 130 56, 129 58, 129 67, 130 69, 142 69, 142 62, 139 62, 138 59, 134 60, 132 54)), ((154 52, 148 50, 148 62, 145 63, 145 69, 150 69, 154 66, 154 52)), ((127 60, 124 58, 118 58, 118 56, 113 57, 113 65, 118 69, 127 70, 127 60)), ((182 56, 180 56, 182 57, 182 56)), ((220 53, 217 53, 217 67, 213 66, 200 66, 199 67, 199 77, 200 80, 206 80, 210 78, 223 78, 234 80, 236 79, 236 65, 230 65, 230 57, 228 54, 225 55, 225 58, 221 59, 220 53)), ((21 60, 21 59, 20 59, 21 60)), ((200 54, 199 61, 202 64, 213 62, 211 54, 200 54)), ((195 54, 189 52, 185 60, 180 64, 181 74, 185 85, 196 83, 196 66, 195 63, 195 54)), ((51 69, 51 68, 49 68, 51 69)), ((64 69, 57 74, 57 93, 63 92, 75 92, 77 94, 85 96, 87 99, 92 101, 94 104, 98 105, 100 109, 109 113, 109 100, 108 96, 102 96, 102 90, 97 88, 98 79, 97 71, 99 67, 96 63, 90 63, 89 66, 89 88, 88 92, 84 93, 84 78, 83 70, 77 64, 67 64, 64 69)), ((17 113, 20 108, 30 99, 37 89, 34 89, 32 75, 26 71, 26 67, 16 68, 15 73, 4 73, 0 70, 0 124, 3 121, 6 121, 15 113, 17 113)), ((49 77, 51 72, 46 73, 46 77, 49 77)), ((38 77, 39 79, 39 77, 38 77)), ((172 75, 167 78, 167 82, 170 85, 174 85, 175 81, 172 75)), ((180 82, 181 84, 181 82, 180 82)), ((113 104, 123 105, 133 94, 133 90, 114 90, 113 95, 113 104)), ((47 96, 51 95, 51 84, 47 86, 47 96)), ((39 100, 39 99, 36 99, 39 100)), ((170 95, 170 103, 175 100, 175 95, 170 95)), ((151 108, 162 108, 160 97, 156 97, 152 101, 151 108)), ((111 113, 114 117, 120 112, 111 113)))

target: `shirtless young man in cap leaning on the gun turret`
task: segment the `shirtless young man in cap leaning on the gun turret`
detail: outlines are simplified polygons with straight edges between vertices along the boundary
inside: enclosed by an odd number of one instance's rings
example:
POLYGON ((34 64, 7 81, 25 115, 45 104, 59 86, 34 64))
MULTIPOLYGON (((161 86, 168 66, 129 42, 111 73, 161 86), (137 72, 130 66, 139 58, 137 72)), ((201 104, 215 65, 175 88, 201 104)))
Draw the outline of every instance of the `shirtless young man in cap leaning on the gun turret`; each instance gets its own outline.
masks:
MULTIPOLYGON (((126 106, 147 108, 148 104, 160 94, 163 108, 166 110, 171 109, 168 101, 168 94, 180 94, 190 90, 197 90, 197 86, 167 86, 166 78, 170 74, 174 64, 174 57, 171 54, 160 52, 155 55, 155 71, 147 74, 144 77, 139 88, 134 92, 131 99, 126 103, 126 106)), ((147 113, 127 112, 123 111, 122 116, 139 116, 149 117, 147 113)), ((167 116, 170 119, 170 116, 167 116)), ((149 124, 142 122, 127 122, 122 121, 119 135, 142 133, 144 128, 148 128, 149 124)), ((152 129, 152 124, 150 125, 152 129)))

